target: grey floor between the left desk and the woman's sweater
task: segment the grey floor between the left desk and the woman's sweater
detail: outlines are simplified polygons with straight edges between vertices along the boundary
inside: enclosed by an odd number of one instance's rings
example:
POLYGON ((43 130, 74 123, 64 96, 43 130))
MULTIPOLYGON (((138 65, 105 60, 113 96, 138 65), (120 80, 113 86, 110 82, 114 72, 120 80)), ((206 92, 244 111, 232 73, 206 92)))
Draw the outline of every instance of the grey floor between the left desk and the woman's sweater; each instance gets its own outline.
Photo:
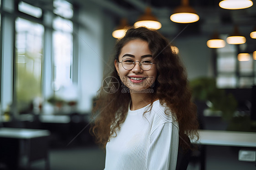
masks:
MULTIPOLYGON (((50 150, 51 170, 103 170, 105 153, 96 145, 50 150)), ((31 165, 31 170, 44 170, 44 161, 31 165)))

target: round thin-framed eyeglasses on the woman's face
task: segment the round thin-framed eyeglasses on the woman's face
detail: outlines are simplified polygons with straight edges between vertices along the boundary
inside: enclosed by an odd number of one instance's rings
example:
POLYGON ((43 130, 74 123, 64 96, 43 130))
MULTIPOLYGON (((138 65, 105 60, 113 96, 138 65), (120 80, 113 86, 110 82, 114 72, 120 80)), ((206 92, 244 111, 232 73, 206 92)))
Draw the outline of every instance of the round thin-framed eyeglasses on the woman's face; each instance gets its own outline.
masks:
POLYGON ((132 70, 135 66, 135 62, 139 63, 139 66, 142 70, 147 71, 151 69, 153 63, 151 60, 148 59, 143 59, 140 62, 139 61, 134 61, 133 59, 123 59, 122 61, 118 61, 119 63, 122 63, 122 66, 125 70, 132 70))

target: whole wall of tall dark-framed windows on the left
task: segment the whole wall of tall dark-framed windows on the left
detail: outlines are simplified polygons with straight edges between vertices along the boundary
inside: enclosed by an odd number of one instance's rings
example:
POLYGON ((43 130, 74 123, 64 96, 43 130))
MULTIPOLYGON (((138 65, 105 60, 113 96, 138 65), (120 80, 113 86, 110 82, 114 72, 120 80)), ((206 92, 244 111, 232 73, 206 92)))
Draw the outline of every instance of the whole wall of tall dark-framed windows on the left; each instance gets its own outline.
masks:
POLYGON ((9 39, 15 48, 14 67, 9 71, 13 99, 8 108, 31 113, 61 87, 72 85, 73 6, 66 0, 5 1, 13 10, 2 9, 3 20, 15 28, 6 34, 13 37, 9 39))

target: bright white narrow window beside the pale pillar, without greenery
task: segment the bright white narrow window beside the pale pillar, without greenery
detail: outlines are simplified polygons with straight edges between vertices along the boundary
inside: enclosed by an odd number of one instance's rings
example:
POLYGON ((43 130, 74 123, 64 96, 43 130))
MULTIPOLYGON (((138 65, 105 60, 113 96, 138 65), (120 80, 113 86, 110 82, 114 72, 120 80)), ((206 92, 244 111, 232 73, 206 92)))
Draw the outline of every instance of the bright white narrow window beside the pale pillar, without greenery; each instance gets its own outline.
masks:
POLYGON ((60 15, 53 20, 54 47, 54 90, 72 84, 71 68, 73 58, 73 16, 72 5, 64 0, 54 1, 54 13, 60 15), (62 17, 61 17, 62 16, 62 17))

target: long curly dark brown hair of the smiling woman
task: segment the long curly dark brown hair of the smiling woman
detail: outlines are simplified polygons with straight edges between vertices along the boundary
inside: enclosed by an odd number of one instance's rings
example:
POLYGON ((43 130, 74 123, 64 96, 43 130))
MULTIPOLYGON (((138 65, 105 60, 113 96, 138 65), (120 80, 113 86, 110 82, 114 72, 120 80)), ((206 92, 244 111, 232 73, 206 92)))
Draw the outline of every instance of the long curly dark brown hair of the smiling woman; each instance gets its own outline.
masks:
POLYGON ((111 59, 111 70, 104 76, 102 88, 99 90, 97 100, 94 102, 94 124, 91 128, 96 141, 106 146, 110 137, 115 137, 121 124, 124 122, 128 104, 131 101, 129 93, 123 93, 127 88, 123 85, 114 66, 114 60, 118 60, 124 45, 130 40, 140 39, 148 42, 157 67, 157 79, 154 82, 154 93, 151 95, 151 105, 154 99, 159 99, 161 104, 166 104, 179 123, 179 144, 188 148, 184 139, 189 136, 190 140, 198 140, 198 120, 195 104, 191 100, 186 70, 179 56, 170 48, 169 41, 156 30, 145 27, 131 28, 125 36, 119 39, 115 45, 114 55, 111 59), (107 81, 106 81, 107 80, 107 81), (114 92, 108 92, 104 87, 109 82, 113 83, 114 92))

